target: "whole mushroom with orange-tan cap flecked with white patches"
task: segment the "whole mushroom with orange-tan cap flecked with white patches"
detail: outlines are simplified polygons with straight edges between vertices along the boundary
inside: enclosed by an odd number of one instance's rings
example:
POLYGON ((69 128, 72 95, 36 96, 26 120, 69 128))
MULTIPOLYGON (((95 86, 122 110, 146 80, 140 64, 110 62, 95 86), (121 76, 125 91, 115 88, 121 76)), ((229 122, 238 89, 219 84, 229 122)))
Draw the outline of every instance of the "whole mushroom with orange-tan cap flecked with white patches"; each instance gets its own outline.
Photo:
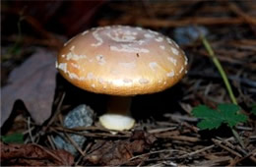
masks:
POLYGON ((129 130, 131 97, 154 93, 186 74, 187 58, 170 38, 146 28, 91 28, 64 44, 56 68, 74 85, 111 95, 103 127, 129 130))

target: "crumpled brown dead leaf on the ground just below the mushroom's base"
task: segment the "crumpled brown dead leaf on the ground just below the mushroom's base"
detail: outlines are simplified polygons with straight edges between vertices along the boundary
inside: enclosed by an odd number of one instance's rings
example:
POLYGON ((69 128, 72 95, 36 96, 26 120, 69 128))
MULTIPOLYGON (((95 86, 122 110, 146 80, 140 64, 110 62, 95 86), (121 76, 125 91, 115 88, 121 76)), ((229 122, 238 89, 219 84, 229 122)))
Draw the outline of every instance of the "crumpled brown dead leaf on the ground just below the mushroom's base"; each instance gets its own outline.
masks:
MULTIPOLYGON (((134 156, 134 153, 142 153, 156 140, 146 132, 136 131, 130 139, 105 141, 99 140, 92 147, 93 152, 86 156, 86 160, 94 165, 121 165, 134 156)), ((135 165, 139 162, 131 162, 127 165, 135 165)))

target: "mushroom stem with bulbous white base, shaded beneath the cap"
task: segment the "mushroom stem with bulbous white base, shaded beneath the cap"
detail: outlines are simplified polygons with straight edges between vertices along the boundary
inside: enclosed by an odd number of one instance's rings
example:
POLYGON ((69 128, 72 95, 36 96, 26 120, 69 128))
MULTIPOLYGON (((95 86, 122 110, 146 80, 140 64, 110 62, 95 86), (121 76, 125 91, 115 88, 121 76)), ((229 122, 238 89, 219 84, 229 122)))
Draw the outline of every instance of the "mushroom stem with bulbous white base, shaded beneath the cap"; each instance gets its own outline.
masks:
POLYGON ((130 116, 130 96, 111 96, 107 104, 107 112, 99 117, 100 124, 109 130, 130 130, 135 120, 130 116))

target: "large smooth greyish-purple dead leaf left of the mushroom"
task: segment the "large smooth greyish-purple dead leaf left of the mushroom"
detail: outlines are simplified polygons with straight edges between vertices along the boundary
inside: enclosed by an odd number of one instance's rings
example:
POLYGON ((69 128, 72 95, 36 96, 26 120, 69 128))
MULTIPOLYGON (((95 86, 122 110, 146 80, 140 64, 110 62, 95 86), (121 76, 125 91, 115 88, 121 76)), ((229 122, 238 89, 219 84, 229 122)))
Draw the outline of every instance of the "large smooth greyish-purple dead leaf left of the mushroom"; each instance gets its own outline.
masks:
POLYGON ((55 91, 54 53, 37 49, 20 67, 10 74, 8 85, 2 88, 1 127, 11 114, 16 100, 22 99, 36 124, 51 115, 55 91))

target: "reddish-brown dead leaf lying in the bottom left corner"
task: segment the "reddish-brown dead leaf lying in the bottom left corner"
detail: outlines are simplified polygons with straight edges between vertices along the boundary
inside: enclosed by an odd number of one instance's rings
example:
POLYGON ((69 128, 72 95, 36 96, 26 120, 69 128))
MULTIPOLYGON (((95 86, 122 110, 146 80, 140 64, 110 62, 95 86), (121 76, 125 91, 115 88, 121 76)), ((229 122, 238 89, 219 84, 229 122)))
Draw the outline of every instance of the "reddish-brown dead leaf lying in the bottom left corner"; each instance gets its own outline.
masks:
POLYGON ((0 145, 2 165, 70 166, 74 163, 73 155, 62 149, 52 150, 33 143, 5 144, 0 142, 0 145))

